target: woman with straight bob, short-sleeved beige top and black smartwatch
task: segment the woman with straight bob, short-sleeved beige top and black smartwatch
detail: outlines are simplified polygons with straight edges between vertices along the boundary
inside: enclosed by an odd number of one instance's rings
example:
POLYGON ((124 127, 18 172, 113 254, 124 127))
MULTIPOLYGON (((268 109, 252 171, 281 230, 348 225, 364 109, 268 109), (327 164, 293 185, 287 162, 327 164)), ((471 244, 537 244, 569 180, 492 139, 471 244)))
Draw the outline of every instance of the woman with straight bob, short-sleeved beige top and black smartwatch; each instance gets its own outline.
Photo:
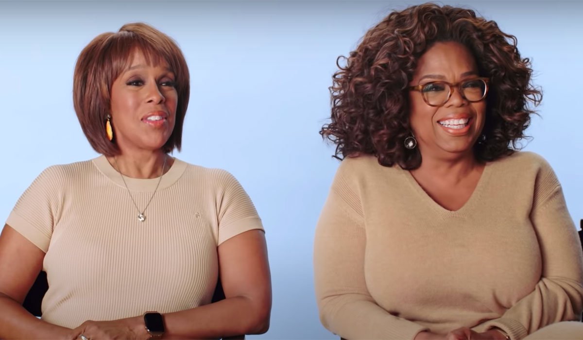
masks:
POLYGON ((51 166, 0 236, 0 338, 219 338, 268 330, 264 229, 237 180, 168 155, 189 99, 184 56, 143 23, 94 38, 73 102, 101 156, 51 166), (40 271, 40 320, 22 302, 40 271), (226 299, 210 303, 220 277, 226 299))

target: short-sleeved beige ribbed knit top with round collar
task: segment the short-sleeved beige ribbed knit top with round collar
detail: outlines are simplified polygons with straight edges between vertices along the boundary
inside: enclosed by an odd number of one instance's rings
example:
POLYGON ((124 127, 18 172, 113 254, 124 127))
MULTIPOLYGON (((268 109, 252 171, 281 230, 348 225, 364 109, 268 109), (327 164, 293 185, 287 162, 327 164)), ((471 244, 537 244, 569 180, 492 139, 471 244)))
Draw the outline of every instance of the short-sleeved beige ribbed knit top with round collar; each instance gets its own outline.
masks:
MULTIPOLYGON (((126 178, 140 209, 160 178, 126 178)), ((43 320, 77 327, 145 311, 210 303, 217 246, 263 229, 251 199, 219 169, 176 159, 145 222, 106 157, 52 166, 20 197, 6 224, 45 251, 43 320)))

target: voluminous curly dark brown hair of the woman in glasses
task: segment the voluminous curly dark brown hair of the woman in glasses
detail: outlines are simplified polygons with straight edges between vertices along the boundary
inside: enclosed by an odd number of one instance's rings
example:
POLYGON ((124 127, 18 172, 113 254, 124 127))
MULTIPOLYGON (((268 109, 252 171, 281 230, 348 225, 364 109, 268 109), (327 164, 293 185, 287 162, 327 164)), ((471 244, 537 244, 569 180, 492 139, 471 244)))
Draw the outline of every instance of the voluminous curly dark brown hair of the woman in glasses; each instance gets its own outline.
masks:
POLYGON ((455 41, 472 52, 480 76, 490 78, 483 140, 474 146, 481 161, 519 149, 518 141, 535 113, 542 92, 531 84, 528 58, 517 39, 470 9, 434 3, 392 12, 368 30, 350 57, 338 57, 332 76, 332 115, 320 134, 336 144, 338 159, 374 155, 382 166, 421 164, 419 148, 403 141, 410 134, 408 86, 417 60, 438 41, 455 41), (345 66, 340 60, 346 61, 345 66), (342 155, 342 157, 339 157, 342 155))

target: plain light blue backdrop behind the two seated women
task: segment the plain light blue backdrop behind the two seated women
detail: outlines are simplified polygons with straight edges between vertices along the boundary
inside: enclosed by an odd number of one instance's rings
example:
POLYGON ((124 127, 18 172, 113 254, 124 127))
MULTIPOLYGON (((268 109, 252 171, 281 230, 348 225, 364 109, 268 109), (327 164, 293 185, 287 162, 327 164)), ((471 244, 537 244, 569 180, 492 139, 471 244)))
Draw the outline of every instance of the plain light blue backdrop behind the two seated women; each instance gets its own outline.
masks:
MULTIPOLYGON (((249 338, 337 338, 318 320, 312 239, 338 162, 321 141, 331 75, 368 28, 414 2, 0 2, 0 219, 45 167, 96 156, 71 91, 97 34, 153 24, 180 44, 192 87, 181 159, 233 173, 266 229, 271 329, 249 338)), ((583 23, 579 1, 445 2, 477 9, 518 37, 544 90, 526 146, 554 167, 583 218, 583 23)))

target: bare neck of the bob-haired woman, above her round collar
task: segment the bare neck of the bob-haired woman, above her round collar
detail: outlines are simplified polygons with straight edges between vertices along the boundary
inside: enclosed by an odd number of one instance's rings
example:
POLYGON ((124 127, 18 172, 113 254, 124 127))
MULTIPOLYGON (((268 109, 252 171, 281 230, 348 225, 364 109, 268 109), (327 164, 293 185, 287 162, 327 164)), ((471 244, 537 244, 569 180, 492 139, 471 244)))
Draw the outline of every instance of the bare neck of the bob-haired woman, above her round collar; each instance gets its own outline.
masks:
POLYGON ((172 158, 161 150, 144 153, 122 153, 107 157, 110 164, 122 175, 131 178, 156 178, 170 169, 172 158), (166 166, 164 166, 166 160, 166 166), (163 169, 164 168, 164 169, 163 169))

